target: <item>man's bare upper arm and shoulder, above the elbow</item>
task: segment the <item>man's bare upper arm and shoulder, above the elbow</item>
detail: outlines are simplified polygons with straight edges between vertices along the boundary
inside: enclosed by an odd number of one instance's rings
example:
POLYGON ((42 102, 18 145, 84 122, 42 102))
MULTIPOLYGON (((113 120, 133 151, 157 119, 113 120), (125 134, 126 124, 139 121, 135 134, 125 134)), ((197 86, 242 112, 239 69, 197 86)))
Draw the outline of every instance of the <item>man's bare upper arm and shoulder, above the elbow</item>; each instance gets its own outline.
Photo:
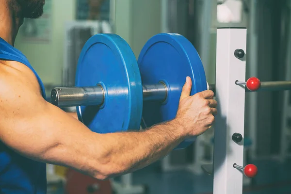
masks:
POLYGON ((0 140, 20 154, 43 160, 61 143, 70 146, 90 131, 38 92, 27 92, 29 85, 13 84, 9 90, 0 94, 0 140))

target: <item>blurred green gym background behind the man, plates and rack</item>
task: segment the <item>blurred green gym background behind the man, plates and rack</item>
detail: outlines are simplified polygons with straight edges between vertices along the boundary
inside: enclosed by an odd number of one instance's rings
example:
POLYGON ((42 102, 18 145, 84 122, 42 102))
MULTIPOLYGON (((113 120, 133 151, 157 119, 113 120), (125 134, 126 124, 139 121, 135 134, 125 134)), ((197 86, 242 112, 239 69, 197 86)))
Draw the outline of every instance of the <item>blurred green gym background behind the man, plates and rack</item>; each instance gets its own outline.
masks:
MULTIPOLYGON (((291 0, 46 0, 41 18, 25 20, 16 48, 44 81, 50 100, 53 87, 74 85, 81 49, 96 33, 122 36, 136 57, 151 36, 182 34, 197 49, 208 82, 214 83, 219 27, 248 29, 247 78, 291 80, 291 0)), ((289 95, 246 94, 244 158, 259 173, 244 178, 244 194, 291 194, 289 95)), ((210 129, 193 146, 105 182, 48 164, 48 193, 211 194, 213 177, 201 165, 212 163, 213 133, 210 129)))

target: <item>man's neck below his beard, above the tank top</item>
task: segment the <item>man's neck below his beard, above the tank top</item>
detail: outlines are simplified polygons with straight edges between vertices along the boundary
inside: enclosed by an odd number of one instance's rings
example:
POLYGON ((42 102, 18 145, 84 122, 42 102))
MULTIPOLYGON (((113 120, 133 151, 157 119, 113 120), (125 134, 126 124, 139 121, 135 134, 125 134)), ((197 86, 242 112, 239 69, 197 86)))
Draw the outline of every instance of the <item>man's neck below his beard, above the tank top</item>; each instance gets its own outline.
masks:
POLYGON ((7 0, 0 0, 0 4, 0 37, 14 46, 18 29, 23 23, 23 18, 17 16, 16 10, 11 9, 7 5, 7 0))

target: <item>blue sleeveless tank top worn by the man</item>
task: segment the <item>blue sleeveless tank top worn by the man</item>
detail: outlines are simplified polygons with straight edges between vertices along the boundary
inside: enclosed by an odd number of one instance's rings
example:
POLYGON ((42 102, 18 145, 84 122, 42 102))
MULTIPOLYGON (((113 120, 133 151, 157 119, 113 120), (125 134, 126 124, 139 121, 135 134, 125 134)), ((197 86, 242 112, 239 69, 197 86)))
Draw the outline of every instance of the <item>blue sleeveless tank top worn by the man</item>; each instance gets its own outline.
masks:
MULTIPOLYGON (((0 59, 17 61, 28 66, 39 82, 42 96, 46 98, 44 84, 27 58, 2 38, 0 38, 0 59)), ((46 164, 20 156, 0 141, 0 194, 46 193, 46 164)))

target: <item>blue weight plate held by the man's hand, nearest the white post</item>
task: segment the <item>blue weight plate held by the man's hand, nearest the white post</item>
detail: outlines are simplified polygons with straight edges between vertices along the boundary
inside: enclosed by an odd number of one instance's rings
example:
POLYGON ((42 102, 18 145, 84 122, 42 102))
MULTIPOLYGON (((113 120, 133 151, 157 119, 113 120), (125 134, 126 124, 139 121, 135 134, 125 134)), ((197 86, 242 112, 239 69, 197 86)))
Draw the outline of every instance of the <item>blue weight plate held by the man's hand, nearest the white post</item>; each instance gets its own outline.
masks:
MULTIPOLYGON (((150 38, 139 55, 138 65, 143 84, 163 81, 168 87, 165 102, 144 102, 143 127, 150 127, 176 117, 179 98, 187 76, 192 78, 191 95, 207 90, 200 57, 191 42, 182 35, 161 33, 150 38)), ((195 139, 196 137, 185 140, 176 149, 189 146, 195 139)))

